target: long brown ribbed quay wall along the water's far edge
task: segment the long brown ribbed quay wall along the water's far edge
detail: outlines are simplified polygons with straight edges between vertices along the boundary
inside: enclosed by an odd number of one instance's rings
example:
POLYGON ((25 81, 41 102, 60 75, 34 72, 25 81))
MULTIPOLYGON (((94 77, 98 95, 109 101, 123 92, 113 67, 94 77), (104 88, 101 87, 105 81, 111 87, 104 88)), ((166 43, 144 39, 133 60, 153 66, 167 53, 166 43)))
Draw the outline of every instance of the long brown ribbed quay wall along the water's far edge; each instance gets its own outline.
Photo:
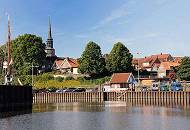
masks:
POLYGON ((135 101, 146 103, 177 102, 190 104, 190 92, 81 92, 35 93, 33 103, 135 101))

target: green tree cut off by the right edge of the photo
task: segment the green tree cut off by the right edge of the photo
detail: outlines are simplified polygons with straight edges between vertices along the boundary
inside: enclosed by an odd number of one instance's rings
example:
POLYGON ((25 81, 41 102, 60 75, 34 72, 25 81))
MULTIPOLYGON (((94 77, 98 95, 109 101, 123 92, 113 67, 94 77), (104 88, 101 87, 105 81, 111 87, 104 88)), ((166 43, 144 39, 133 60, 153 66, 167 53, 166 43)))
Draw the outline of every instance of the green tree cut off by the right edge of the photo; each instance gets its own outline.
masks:
POLYGON ((180 80, 190 80, 190 57, 184 57, 177 70, 177 78, 180 80))

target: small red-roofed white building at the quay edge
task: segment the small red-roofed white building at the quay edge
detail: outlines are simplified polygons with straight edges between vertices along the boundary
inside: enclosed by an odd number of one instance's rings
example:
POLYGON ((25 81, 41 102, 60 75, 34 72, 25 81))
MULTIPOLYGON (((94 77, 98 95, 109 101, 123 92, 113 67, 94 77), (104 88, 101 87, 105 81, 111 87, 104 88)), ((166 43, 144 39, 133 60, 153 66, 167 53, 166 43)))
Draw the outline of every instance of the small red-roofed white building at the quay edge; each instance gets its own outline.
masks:
POLYGON ((132 73, 114 73, 110 79, 110 91, 135 90, 135 83, 132 73))

